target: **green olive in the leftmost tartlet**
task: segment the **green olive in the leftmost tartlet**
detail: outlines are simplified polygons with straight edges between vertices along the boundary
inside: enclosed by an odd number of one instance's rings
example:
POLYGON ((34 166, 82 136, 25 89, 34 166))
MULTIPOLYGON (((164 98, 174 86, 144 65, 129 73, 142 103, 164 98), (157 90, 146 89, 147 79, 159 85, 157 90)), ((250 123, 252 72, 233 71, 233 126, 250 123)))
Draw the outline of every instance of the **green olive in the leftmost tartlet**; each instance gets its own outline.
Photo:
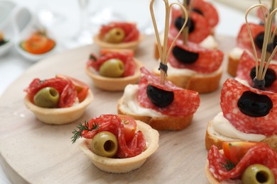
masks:
POLYGON ((45 87, 40 89, 33 97, 35 105, 41 108, 57 108, 60 94, 55 88, 45 87))

